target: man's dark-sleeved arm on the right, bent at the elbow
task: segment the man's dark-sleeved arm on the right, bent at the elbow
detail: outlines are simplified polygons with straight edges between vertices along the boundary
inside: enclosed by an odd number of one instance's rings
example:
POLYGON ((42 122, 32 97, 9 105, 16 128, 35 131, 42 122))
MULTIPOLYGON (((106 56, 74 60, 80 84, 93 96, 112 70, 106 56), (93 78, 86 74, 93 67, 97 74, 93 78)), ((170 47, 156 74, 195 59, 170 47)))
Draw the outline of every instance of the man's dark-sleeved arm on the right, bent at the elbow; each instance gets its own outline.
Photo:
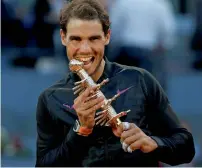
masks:
POLYGON ((183 128, 160 84, 147 71, 143 73, 143 85, 148 97, 149 128, 158 148, 152 153, 159 161, 170 165, 189 163, 195 149, 192 134, 183 128))

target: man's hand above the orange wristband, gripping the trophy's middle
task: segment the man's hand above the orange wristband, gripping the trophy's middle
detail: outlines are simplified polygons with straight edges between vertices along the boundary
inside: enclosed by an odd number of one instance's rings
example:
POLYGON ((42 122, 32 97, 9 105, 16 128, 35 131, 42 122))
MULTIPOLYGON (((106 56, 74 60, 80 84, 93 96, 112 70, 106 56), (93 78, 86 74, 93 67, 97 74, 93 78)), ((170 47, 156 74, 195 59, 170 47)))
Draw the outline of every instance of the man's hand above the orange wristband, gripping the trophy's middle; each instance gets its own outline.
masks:
POLYGON ((92 129, 95 125, 95 112, 104 104, 103 97, 93 97, 97 86, 87 88, 74 100, 74 109, 82 127, 92 129))

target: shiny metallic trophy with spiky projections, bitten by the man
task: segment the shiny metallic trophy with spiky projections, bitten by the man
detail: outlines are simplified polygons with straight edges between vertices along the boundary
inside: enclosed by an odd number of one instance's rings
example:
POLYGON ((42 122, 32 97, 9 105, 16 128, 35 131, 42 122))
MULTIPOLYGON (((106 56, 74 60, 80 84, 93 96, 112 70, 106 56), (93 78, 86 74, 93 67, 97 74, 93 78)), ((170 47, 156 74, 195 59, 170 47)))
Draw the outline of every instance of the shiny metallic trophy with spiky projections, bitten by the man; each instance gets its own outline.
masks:
POLYGON ((117 127, 122 123, 120 117, 127 115, 128 111, 122 111, 119 114, 116 113, 115 109, 112 107, 111 103, 115 101, 121 93, 117 93, 110 99, 107 99, 100 88, 105 85, 109 80, 105 79, 100 84, 96 84, 93 79, 88 75, 88 73, 83 69, 83 62, 76 59, 72 59, 69 63, 69 68, 73 73, 76 73, 81 81, 75 83, 73 88, 74 94, 82 93, 86 88, 90 86, 97 86, 96 94, 93 95, 97 97, 104 97, 104 105, 101 106, 101 112, 96 113, 96 125, 109 126, 112 127, 112 131, 115 136, 119 137, 117 133, 117 127))

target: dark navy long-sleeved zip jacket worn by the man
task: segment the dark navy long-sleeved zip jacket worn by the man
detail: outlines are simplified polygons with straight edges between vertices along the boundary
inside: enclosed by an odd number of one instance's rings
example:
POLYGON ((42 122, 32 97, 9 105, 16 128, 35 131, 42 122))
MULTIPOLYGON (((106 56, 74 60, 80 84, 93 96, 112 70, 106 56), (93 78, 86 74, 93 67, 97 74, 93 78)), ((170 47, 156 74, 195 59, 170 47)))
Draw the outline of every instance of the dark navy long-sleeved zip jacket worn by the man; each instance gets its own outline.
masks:
POLYGON ((121 120, 135 123, 157 142, 158 148, 150 153, 124 152, 110 127, 95 126, 88 137, 75 133, 77 115, 72 105, 77 96, 72 88, 79 77, 70 72, 39 96, 36 166, 156 167, 159 162, 178 165, 192 160, 193 137, 181 126, 165 92, 148 71, 106 60, 97 83, 106 78, 109 82, 101 88, 106 98, 130 88, 112 106, 117 113, 130 109, 121 120))

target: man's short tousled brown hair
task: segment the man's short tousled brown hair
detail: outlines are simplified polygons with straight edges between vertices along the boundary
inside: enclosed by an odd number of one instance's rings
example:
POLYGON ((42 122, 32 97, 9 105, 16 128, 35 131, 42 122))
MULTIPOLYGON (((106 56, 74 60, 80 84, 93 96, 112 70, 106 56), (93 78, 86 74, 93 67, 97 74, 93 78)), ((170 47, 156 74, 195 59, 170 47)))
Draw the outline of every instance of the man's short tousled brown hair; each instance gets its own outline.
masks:
POLYGON ((70 19, 99 20, 106 35, 110 28, 109 15, 98 0, 71 0, 60 11, 60 28, 67 33, 70 19))

